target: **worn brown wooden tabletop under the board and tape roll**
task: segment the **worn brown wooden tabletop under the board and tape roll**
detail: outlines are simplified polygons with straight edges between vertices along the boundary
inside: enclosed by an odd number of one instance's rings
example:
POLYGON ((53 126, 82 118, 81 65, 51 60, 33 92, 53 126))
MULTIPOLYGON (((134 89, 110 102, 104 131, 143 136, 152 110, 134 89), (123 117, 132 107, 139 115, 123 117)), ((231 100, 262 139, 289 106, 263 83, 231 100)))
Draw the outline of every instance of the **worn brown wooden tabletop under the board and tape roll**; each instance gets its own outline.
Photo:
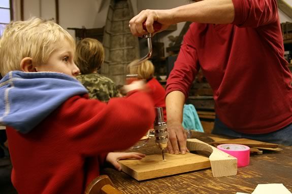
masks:
MULTIPOLYGON (((204 133, 193 133, 192 138, 198 138, 209 142, 210 138, 204 133)), ((257 184, 282 183, 292 191, 292 146, 282 146, 280 153, 264 151, 262 155, 252 154, 250 164, 238 168, 236 176, 217 177, 212 176, 211 169, 193 171, 179 175, 161 177, 145 181, 137 181, 123 172, 112 168, 105 168, 102 173, 107 174, 115 187, 123 193, 251 193, 257 184)), ((137 149, 127 151, 139 151, 145 154, 159 154, 154 138, 137 149)))

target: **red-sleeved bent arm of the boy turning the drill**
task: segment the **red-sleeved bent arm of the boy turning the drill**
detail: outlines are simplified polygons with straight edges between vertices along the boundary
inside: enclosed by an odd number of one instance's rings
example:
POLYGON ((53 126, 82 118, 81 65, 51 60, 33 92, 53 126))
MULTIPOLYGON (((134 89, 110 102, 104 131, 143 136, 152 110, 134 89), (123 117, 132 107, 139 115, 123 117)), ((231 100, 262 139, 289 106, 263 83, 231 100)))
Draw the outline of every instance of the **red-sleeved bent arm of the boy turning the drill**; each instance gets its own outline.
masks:
POLYGON ((131 147, 154 121, 154 105, 146 92, 132 91, 108 104, 75 96, 59 109, 59 125, 68 141, 85 156, 131 147))

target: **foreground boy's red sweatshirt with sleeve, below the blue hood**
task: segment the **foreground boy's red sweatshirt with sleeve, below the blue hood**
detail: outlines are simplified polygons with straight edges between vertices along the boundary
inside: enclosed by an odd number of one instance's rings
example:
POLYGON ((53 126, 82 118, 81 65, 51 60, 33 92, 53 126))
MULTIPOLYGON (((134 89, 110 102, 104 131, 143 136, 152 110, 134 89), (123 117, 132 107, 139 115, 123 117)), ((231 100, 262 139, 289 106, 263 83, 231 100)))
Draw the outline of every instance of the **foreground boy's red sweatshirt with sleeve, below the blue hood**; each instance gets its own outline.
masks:
POLYGON ((108 104, 74 96, 27 134, 8 127, 13 185, 19 194, 81 194, 107 152, 132 146, 153 121, 145 92, 108 104))

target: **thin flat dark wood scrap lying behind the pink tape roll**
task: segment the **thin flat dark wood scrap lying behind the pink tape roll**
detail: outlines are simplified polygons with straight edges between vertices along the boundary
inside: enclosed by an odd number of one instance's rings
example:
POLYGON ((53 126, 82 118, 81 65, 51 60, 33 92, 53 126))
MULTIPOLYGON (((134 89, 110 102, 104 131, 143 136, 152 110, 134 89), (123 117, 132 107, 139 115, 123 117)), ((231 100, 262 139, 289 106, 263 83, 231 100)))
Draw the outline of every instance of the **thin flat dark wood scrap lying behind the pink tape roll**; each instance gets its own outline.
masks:
POLYGON ((243 144, 243 145, 246 145, 249 147, 270 147, 270 148, 277 148, 278 147, 278 144, 275 144, 275 143, 267 143, 267 142, 263 142, 263 141, 256 141, 256 140, 246 139, 246 138, 210 142, 210 144, 215 144, 215 145, 225 144, 225 143, 243 144))

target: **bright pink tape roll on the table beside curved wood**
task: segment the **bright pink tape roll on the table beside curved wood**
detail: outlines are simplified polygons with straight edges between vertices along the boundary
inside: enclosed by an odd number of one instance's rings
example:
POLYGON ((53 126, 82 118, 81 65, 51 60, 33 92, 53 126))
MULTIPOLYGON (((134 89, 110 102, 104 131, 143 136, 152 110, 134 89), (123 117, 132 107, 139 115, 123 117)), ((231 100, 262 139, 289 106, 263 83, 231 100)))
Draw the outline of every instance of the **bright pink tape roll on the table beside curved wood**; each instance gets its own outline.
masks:
POLYGON ((218 149, 237 158, 237 167, 249 165, 249 147, 241 144, 221 144, 218 149))

